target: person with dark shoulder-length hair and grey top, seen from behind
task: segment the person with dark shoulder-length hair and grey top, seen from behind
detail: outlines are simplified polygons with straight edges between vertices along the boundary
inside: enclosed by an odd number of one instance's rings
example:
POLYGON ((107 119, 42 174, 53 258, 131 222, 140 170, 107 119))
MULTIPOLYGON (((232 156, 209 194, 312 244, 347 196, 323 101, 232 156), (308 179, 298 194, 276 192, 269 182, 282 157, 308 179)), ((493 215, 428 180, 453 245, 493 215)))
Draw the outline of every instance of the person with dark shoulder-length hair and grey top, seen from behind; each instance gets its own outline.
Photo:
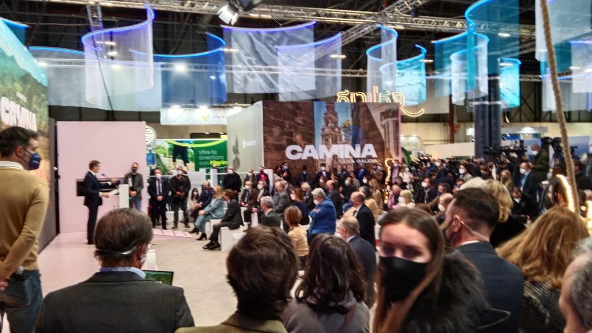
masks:
POLYGON ((289 333, 369 332, 370 310, 358 256, 334 235, 320 235, 310 246, 302 283, 282 313, 289 333))

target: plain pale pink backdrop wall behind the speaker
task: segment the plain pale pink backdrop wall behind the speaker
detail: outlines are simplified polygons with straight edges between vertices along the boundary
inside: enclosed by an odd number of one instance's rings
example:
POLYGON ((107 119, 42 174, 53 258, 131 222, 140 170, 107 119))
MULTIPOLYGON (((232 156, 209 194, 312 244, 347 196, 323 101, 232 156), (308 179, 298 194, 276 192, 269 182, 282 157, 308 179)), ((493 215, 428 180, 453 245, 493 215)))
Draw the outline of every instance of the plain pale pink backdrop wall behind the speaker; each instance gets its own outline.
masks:
MULTIPOLYGON (((60 198, 60 232, 86 230, 88 209, 84 197, 76 196, 76 181, 83 180, 93 159, 101 162, 99 174, 123 178, 133 162, 146 182, 146 142, 143 121, 58 121, 57 161, 60 198)), ((99 179, 101 176, 99 175, 99 179)), ((118 204, 118 196, 103 199, 98 217, 118 204)), ((147 185, 142 191, 142 207, 147 210, 147 185)))

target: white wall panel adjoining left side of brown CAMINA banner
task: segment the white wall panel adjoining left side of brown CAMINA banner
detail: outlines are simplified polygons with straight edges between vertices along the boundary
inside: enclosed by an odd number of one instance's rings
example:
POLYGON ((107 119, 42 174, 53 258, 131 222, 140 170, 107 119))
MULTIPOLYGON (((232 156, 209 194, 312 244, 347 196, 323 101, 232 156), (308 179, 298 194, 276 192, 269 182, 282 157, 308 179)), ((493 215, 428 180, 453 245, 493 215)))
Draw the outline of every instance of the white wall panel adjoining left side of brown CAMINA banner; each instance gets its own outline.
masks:
POLYGON ((263 165, 263 103, 226 117, 228 163, 238 172, 263 165))

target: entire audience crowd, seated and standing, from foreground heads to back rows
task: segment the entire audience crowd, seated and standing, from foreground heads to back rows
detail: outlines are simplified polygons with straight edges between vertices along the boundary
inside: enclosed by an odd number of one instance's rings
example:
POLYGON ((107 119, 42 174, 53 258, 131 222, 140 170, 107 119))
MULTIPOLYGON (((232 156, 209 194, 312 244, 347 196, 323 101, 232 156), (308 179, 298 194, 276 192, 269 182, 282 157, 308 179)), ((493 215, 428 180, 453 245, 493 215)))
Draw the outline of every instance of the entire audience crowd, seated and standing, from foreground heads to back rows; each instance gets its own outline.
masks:
POLYGON ((30 131, 0 132, 0 318, 6 312, 15 332, 592 331, 587 222, 554 179, 561 165, 538 178, 541 158, 396 161, 390 173, 381 164, 321 165, 314 177, 306 168, 292 177, 282 164, 272 179, 262 167, 244 180, 229 168, 223 185, 206 181, 201 193, 182 169, 170 181, 156 169, 151 200, 187 200, 175 207, 210 240, 205 249, 220 246, 222 226, 247 223, 226 260, 236 312, 194 327, 184 290, 141 270, 163 218, 155 205, 152 221, 133 208, 102 216, 92 233, 101 269, 41 297, 36 239, 48 188, 25 172, 36 147, 30 131), (253 214, 259 226, 247 220, 253 214), (212 219, 221 222, 208 237, 212 219))

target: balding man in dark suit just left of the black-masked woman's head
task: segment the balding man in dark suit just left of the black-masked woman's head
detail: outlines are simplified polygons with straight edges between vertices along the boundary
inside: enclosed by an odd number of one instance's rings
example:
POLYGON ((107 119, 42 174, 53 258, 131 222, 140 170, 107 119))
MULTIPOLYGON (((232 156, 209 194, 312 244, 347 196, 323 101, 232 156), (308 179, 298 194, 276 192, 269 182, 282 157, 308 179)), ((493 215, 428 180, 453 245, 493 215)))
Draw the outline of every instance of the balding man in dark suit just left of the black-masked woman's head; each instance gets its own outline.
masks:
POLYGON ((374 246, 360 236, 360 225, 358 220, 353 216, 345 216, 341 219, 339 233, 348 242, 349 246, 352 246, 353 251, 356 252, 362 264, 364 281, 366 283, 364 303, 366 303, 368 308, 372 308, 375 296, 374 279, 377 271, 374 246))

